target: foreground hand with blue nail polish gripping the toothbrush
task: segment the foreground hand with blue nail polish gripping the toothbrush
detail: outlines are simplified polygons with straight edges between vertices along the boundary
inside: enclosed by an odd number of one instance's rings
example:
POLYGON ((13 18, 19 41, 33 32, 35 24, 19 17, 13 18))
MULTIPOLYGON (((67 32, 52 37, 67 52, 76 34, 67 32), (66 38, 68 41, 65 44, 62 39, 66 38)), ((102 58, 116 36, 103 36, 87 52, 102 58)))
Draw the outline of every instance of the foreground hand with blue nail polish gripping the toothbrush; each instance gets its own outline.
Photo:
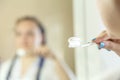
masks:
POLYGON ((106 31, 103 31, 97 38, 93 39, 93 42, 98 45, 99 49, 113 50, 120 56, 120 39, 109 37, 106 31))

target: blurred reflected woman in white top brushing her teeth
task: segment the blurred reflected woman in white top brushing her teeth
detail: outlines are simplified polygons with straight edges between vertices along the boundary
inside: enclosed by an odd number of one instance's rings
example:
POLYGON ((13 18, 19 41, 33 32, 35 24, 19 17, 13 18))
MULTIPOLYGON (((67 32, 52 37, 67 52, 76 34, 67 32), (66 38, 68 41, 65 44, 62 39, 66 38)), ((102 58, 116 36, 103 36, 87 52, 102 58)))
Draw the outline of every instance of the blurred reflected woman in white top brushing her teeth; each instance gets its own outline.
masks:
POLYGON ((44 27, 36 18, 18 19, 14 32, 16 54, 2 64, 0 80, 72 80, 46 46, 44 27))

